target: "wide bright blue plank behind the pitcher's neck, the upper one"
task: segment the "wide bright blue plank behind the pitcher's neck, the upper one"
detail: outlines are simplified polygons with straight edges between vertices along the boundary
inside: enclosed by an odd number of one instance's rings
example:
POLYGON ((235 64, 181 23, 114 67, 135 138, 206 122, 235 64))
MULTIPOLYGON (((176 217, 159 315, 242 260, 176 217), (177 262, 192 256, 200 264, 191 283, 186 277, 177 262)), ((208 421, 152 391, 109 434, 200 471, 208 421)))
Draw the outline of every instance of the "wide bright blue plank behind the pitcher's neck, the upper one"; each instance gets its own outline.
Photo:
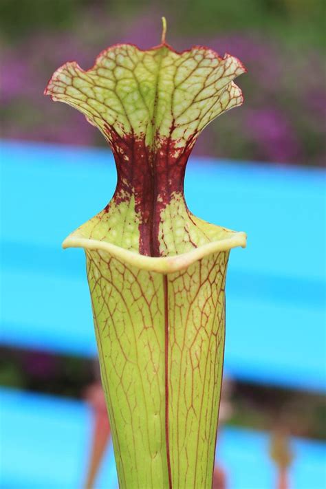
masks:
MULTIPOLYGON (((0 151, 2 343, 94 355, 83 251, 61 242, 109 201, 113 157, 17 142, 0 151)), ((248 233, 230 256, 226 371, 325 389, 325 172, 193 158, 186 198, 199 217, 248 233)))

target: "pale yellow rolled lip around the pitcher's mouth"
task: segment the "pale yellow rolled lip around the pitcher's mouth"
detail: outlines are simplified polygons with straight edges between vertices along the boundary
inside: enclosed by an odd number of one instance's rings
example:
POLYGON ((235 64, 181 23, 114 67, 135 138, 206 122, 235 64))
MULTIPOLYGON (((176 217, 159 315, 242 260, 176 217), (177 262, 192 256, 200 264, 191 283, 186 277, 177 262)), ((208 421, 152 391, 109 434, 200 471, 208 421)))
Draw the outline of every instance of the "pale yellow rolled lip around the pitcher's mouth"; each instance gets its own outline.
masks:
POLYGON ((189 265, 209 254, 219 251, 228 251, 232 248, 237 248, 238 246, 246 248, 246 244, 246 232, 235 232, 232 237, 212 241, 211 243, 206 243, 191 251, 172 257, 147 257, 143 254, 125 250, 112 243, 99 241, 97 239, 88 239, 83 237, 83 235, 78 234, 78 232, 73 232, 65 239, 65 241, 63 241, 62 246, 63 248, 84 248, 85 250, 107 252, 112 257, 116 257, 121 261, 124 261, 124 263, 128 263, 141 270, 169 274, 185 270, 189 265))

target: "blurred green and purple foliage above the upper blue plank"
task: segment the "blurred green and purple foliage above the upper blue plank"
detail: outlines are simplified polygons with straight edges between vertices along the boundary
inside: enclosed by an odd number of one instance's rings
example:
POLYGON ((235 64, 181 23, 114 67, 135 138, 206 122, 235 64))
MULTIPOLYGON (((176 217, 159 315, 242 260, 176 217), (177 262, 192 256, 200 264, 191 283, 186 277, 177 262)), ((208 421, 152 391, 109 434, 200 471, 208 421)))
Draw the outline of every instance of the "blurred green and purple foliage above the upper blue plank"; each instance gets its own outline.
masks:
POLYGON ((56 67, 88 69, 112 43, 147 48, 167 41, 230 52, 248 68, 246 104, 202 134, 199 155, 321 166, 325 162, 325 1, 323 0, 1 0, 3 137, 105 144, 76 111, 40 96, 56 67), (69 128, 69 130, 68 130, 69 128))

